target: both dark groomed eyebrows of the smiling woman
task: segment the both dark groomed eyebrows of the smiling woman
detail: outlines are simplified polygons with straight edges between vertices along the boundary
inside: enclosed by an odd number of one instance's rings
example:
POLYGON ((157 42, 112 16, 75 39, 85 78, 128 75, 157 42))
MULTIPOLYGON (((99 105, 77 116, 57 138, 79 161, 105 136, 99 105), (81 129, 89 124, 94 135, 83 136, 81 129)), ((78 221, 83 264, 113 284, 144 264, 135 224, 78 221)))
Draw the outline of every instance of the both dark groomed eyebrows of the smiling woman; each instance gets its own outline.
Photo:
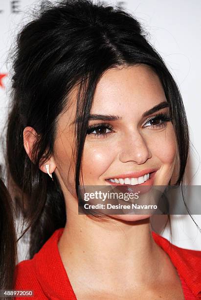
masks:
MULTIPOLYGON (((169 107, 169 106, 170 106, 170 104, 167 101, 160 102, 159 104, 157 104, 154 107, 150 108, 149 110, 145 111, 142 114, 142 118, 147 117, 147 116, 155 113, 156 111, 158 111, 158 110, 160 110, 162 108, 169 107)), ((122 119, 122 117, 120 117, 120 116, 101 115, 101 114, 92 114, 92 115, 89 115, 89 121, 90 120, 119 121, 121 119, 122 119)), ((79 122, 81 122, 81 120, 82 120, 82 117, 79 117, 74 122, 72 122, 72 124, 79 123, 79 122)))

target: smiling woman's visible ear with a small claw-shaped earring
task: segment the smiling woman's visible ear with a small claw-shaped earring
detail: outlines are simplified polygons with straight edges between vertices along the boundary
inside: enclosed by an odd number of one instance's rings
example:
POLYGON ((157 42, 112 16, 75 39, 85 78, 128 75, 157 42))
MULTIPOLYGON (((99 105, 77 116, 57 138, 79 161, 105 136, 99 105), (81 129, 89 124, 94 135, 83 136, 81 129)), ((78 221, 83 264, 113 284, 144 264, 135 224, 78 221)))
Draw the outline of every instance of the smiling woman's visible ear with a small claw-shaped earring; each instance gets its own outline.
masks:
MULTIPOLYGON (((24 149, 31 161, 33 161, 32 150, 33 150, 34 143, 37 139, 37 136, 38 136, 38 134, 36 133, 36 131, 33 127, 27 126, 24 128, 24 130, 23 130, 23 145, 24 145, 24 149)), ((46 161, 41 160, 41 163, 39 165, 39 169, 47 174, 47 171, 45 168, 46 164, 50 165, 49 172, 53 173, 56 169, 56 163, 55 163, 53 156, 51 156, 46 161)))

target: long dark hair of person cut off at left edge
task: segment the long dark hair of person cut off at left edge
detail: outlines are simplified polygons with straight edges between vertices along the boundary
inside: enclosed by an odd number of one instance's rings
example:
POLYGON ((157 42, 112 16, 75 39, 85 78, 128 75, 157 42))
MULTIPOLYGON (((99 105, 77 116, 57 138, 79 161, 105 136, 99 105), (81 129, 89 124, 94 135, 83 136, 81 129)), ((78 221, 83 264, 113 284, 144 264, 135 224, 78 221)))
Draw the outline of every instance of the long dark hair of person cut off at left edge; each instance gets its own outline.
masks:
MULTIPOLYGON (((12 200, 3 181, 0 179, 0 290, 14 288, 16 255, 16 233, 12 200)), ((0 298, 6 299, 5 296, 1 292, 0 298)))

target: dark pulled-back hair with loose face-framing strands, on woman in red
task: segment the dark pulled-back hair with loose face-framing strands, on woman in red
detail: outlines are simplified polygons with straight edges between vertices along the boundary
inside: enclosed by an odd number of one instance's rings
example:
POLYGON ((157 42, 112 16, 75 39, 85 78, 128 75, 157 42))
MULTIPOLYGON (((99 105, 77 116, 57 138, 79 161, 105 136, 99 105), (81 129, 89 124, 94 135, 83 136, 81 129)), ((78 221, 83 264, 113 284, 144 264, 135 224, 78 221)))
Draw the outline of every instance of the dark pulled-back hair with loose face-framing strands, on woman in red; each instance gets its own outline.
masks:
POLYGON ((82 153, 96 85, 105 71, 137 64, 154 70, 170 104, 179 151, 177 184, 182 184, 189 152, 183 102, 173 76, 134 16, 91 0, 43 2, 38 16, 19 33, 13 63, 7 163, 10 178, 22 194, 16 196, 16 201, 31 228, 30 258, 67 221, 59 181, 53 174, 52 182, 40 171, 39 163, 54 153, 57 120, 67 109, 70 91, 77 84, 76 118, 81 117, 76 126, 75 145, 78 195, 82 153), (38 134, 32 161, 23 147, 26 126, 33 127, 38 134))

